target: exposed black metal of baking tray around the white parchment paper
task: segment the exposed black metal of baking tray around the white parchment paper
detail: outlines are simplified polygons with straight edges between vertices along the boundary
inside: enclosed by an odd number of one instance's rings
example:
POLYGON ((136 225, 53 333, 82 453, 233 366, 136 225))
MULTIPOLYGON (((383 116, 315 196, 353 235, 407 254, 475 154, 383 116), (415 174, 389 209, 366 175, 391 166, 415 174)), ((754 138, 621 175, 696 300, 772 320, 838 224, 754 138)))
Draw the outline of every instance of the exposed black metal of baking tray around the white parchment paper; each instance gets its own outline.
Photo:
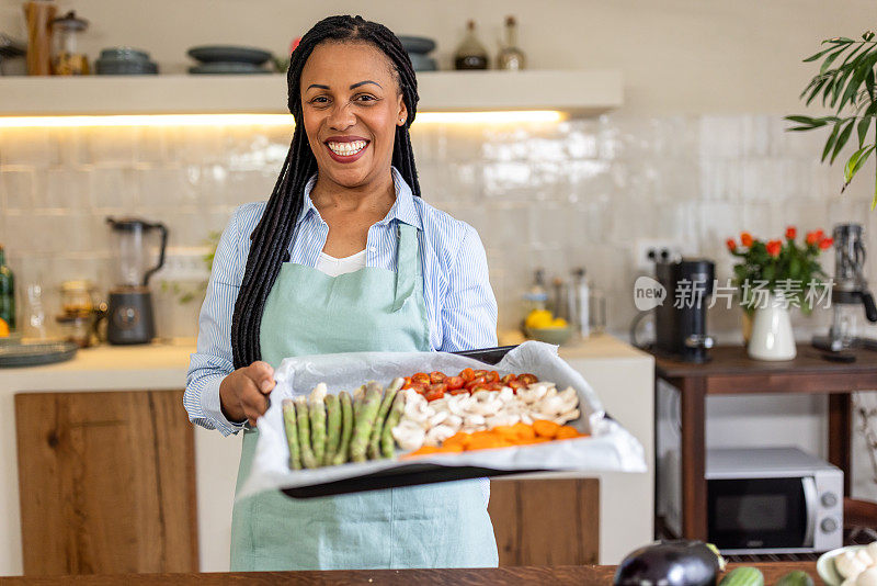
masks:
MULTIPOLYGON (((513 348, 516 348, 516 346, 480 348, 478 350, 464 350, 452 353, 474 358, 487 364, 496 364, 513 348)), ((354 478, 344 478, 341 481, 312 484, 310 486, 298 486, 295 488, 284 488, 283 493, 294 498, 314 498, 317 496, 381 491, 385 488, 399 488, 402 486, 414 486, 418 484, 431 484, 436 482, 464 481, 483 476, 527 474, 529 472, 545 472, 545 470, 494 470, 477 466, 440 466, 437 464, 412 462, 405 466, 384 470, 354 478)))

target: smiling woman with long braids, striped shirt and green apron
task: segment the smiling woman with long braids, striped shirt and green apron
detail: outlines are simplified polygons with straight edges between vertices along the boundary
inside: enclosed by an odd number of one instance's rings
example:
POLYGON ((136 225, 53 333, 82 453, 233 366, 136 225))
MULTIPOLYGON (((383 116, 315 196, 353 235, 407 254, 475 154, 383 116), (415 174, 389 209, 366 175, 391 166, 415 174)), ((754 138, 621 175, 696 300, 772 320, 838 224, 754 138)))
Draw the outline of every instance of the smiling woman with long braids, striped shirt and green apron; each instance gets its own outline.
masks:
MULTIPOLYGON (((219 241, 184 399, 192 421, 243 429, 238 487, 284 358, 497 343, 478 234, 419 196, 417 79, 399 40, 360 16, 326 19, 287 83, 293 144, 269 202, 239 207, 219 241)), ((231 568, 496 566, 485 486, 243 499, 231 568)))

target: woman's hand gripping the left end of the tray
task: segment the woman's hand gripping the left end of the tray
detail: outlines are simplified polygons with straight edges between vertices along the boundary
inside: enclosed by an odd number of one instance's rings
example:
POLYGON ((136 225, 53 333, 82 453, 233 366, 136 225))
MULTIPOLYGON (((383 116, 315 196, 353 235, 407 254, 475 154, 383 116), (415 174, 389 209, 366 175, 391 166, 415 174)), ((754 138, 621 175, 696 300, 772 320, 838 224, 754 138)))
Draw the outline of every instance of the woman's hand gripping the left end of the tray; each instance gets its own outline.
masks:
POLYGON ((229 421, 247 419, 251 426, 265 414, 274 385, 274 369, 261 360, 236 370, 219 384, 219 402, 229 421))

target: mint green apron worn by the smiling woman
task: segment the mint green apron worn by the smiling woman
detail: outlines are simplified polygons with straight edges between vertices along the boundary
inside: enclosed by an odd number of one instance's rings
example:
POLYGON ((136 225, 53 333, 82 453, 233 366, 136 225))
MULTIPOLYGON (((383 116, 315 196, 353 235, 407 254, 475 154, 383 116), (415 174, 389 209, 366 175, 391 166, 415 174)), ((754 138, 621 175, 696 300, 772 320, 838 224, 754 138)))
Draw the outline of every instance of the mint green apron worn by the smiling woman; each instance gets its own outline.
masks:
MULTIPOLYGON (((398 221, 397 221, 398 222, 398 221)), ((262 360, 354 351, 428 351, 417 228, 399 223, 397 272, 329 277, 287 262, 265 302, 262 360)), ((238 491, 258 432, 246 430, 238 491)), ((231 570, 493 567, 493 527, 478 481, 294 499, 262 493, 235 504, 231 570)))

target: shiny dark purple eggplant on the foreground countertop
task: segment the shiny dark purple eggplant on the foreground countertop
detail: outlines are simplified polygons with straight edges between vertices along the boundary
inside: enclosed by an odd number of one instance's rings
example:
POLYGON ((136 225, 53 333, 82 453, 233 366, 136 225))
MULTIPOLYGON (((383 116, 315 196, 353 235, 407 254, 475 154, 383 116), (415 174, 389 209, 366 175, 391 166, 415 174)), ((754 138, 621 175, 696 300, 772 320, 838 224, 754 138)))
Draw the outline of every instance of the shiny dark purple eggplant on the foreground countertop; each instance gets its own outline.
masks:
POLYGON ((685 539, 631 551, 618 564, 616 586, 715 586, 725 560, 715 545, 685 539))

